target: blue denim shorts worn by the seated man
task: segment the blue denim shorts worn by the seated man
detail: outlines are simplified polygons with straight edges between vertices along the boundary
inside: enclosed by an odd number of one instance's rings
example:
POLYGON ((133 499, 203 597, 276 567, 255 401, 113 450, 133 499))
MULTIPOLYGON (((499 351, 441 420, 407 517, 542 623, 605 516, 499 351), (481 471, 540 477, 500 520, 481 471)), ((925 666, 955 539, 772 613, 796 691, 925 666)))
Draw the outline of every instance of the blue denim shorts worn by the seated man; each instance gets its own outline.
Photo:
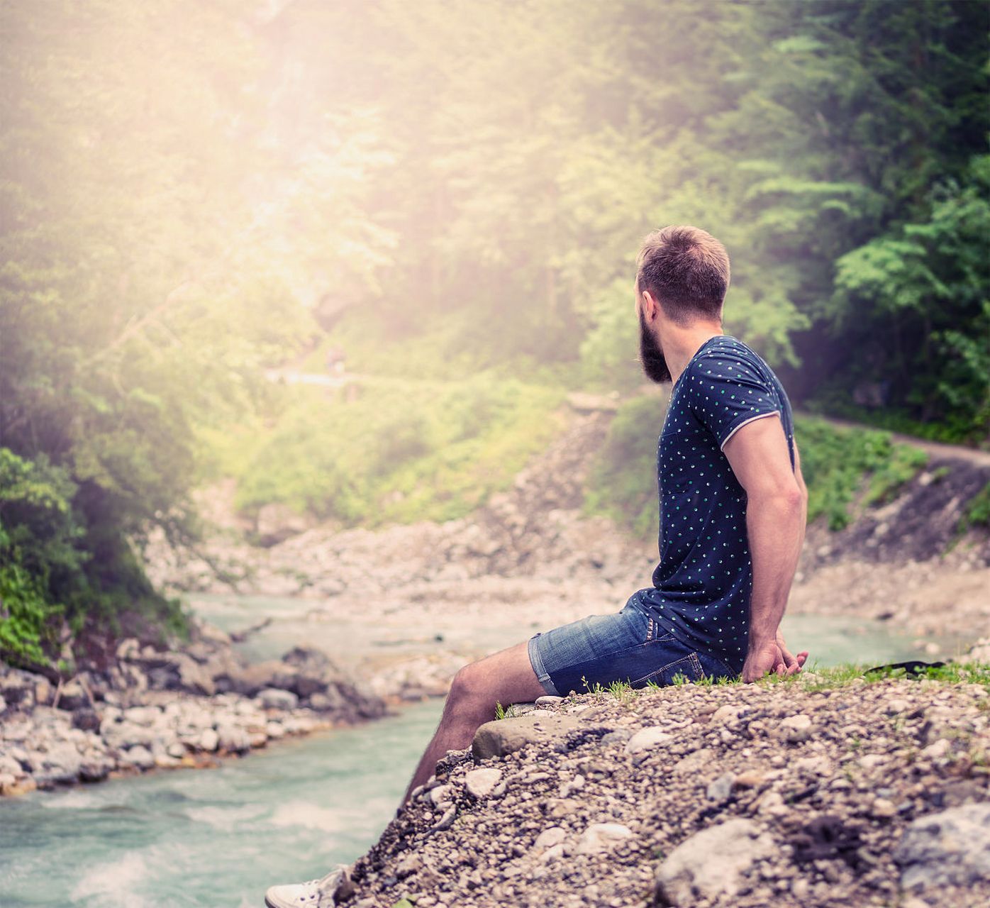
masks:
POLYGON ((613 615, 589 615, 537 634, 528 649, 544 690, 559 696, 613 681, 645 687, 672 684, 678 674, 689 681, 739 674, 664 631, 636 597, 613 615))

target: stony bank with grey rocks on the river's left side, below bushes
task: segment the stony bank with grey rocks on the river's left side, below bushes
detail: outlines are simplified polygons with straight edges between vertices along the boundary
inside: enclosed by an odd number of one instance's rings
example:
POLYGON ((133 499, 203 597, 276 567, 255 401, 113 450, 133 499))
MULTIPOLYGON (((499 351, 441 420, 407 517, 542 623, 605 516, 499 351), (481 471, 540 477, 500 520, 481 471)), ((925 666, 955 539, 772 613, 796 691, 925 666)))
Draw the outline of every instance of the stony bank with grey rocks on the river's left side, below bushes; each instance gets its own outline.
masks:
POLYGON ((124 640, 64 684, 0 664, 0 795, 210 765, 385 713, 322 653, 248 665, 223 632, 198 624, 195 636, 178 651, 124 640))

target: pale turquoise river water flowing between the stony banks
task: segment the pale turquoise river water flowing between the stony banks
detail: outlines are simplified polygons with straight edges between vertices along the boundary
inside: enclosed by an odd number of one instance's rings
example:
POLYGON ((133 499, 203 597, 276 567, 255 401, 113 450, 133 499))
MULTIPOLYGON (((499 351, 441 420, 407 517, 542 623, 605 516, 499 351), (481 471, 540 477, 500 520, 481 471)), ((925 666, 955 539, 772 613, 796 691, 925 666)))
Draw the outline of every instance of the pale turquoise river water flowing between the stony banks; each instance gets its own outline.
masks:
MULTIPOLYGON (((199 607, 227 627, 277 616, 248 641, 254 656, 279 655, 300 640, 321 643, 312 627, 303 633, 311 603, 218 597, 199 607)), ((919 657, 911 640, 876 622, 793 616, 784 630, 822 665, 919 657)), ((496 627, 481 643, 504 646, 519 635, 518 626, 496 627)), ((344 636, 355 653, 375 646, 367 627, 344 636)), ((440 701, 412 705, 216 769, 152 772, 0 801, 0 906, 259 906, 271 883, 322 875, 366 851, 392 817, 440 709, 440 701)))

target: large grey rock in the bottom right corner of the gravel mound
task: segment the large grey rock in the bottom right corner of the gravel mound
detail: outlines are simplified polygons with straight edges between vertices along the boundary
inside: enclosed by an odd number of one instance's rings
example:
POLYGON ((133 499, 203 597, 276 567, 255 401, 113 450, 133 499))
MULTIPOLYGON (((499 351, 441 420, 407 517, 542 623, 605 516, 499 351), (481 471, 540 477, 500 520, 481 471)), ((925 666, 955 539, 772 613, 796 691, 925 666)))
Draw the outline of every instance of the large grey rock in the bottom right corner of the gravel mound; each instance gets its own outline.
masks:
POLYGON ((919 817, 894 851, 901 885, 969 885, 990 877, 990 803, 919 817))

